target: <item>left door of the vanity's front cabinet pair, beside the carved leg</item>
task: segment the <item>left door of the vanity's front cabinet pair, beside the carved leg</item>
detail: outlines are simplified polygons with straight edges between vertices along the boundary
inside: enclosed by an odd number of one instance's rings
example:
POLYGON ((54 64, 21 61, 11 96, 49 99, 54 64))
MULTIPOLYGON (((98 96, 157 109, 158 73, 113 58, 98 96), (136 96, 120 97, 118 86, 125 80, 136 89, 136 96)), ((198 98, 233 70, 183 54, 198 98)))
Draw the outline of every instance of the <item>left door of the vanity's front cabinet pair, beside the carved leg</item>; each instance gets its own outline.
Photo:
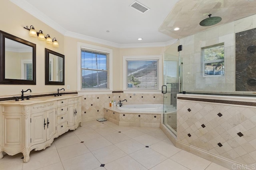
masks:
POLYGON ((46 141, 47 118, 45 111, 31 114, 31 145, 46 141))

